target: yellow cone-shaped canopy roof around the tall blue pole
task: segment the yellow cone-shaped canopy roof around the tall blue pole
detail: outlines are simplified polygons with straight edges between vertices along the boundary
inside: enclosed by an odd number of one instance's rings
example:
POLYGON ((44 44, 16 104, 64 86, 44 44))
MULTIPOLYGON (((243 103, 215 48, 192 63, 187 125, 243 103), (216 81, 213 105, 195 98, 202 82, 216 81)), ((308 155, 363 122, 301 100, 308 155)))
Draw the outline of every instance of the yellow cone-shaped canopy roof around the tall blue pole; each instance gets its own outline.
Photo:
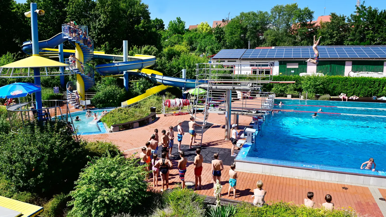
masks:
POLYGON ((0 66, 0 68, 38 68, 38 67, 58 67, 69 66, 52 59, 47 59, 41 56, 30 56, 19 61, 0 66))

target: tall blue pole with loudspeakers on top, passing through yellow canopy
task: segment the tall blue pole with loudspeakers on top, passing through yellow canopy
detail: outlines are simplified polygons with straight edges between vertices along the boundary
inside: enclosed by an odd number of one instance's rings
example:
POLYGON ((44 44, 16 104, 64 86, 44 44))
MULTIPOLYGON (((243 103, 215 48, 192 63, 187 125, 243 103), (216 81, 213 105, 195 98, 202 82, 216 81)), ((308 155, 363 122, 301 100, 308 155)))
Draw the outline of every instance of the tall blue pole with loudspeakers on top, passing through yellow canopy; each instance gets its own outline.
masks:
MULTIPOLYGON (((37 9, 36 3, 30 4, 31 8, 31 32, 32 32, 32 56, 39 56, 39 37, 37 34, 37 13, 35 10, 37 9)), ((34 68, 34 76, 40 76, 40 68, 34 68)), ((40 77, 34 77, 35 84, 41 86, 40 77)), ((41 117, 42 110, 42 92, 35 93, 35 101, 36 101, 36 109, 38 112, 38 118, 41 117)))

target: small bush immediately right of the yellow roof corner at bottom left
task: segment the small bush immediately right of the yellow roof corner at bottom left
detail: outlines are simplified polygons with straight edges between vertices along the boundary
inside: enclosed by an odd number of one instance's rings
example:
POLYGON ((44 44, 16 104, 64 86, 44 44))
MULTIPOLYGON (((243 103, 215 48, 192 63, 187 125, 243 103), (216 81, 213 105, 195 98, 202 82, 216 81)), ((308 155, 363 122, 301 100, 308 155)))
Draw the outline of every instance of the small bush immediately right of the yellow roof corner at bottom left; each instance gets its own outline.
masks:
POLYGON ((64 193, 54 195, 48 203, 44 204, 43 217, 58 217, 63 216, 66 211, 66 203, 68 196, 64 193))

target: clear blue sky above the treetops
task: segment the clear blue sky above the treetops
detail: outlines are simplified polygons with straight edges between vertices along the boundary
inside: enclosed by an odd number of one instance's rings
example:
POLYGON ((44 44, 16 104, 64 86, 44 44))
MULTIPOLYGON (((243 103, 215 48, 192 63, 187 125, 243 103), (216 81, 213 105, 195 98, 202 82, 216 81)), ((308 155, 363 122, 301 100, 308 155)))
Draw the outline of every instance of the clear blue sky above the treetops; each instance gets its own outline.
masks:
MULTIPOLYGON (((16 0, 25 2, 25 0, 16 0)), ((362 0, 361 0, 362 1, 362 0)), ((230 18, 239 15, 240 12, 248 11, 269 11, 274 5, 298 3, 303 7, 310 7, 315 11, 315 20, 318 16, 335 12, 337 14, 350 15, 355 10, 356 0, 142 0, 149 5, 151 18, 161 18, 164 20, 165 27, 170 20, 181 17, 189 25, 200 24, 207 21, 212 25, 213 20, 221 20, 228 16, 230 18)), ((366 6, 386 9, 385 0, 367 0, 366 6)))

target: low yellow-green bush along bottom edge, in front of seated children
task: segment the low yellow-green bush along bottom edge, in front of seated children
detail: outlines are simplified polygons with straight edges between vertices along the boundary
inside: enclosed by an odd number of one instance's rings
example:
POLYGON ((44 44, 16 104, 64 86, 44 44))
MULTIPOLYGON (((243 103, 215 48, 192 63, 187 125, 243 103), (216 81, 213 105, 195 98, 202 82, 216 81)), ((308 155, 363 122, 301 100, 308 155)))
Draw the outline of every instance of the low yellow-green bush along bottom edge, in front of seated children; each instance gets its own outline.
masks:
POLYGON ((274 202, 269 206, 256 207, 249 203, 242 203, 237 207, 237 213, 234 217, 356 217, 356 213, 352 210, 337 210, 327 211, 325 209, 315 208, 310 209, 304 205, 294 205, 286 202, 274 202))

